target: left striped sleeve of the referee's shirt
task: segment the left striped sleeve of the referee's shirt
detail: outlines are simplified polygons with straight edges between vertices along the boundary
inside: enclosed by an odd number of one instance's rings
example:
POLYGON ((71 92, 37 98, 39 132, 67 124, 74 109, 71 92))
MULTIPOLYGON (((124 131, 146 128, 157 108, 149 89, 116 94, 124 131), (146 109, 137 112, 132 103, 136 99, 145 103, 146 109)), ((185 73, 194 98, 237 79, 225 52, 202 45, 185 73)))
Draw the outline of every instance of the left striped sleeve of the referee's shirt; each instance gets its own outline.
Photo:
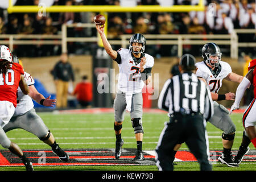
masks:
POLYGON ((163 89, 158 98, 158 108, 163 110, 169 110, 169 106, 171 104, 170 97, 171 97, 171 79, 167 80, 164 83, 163 89))

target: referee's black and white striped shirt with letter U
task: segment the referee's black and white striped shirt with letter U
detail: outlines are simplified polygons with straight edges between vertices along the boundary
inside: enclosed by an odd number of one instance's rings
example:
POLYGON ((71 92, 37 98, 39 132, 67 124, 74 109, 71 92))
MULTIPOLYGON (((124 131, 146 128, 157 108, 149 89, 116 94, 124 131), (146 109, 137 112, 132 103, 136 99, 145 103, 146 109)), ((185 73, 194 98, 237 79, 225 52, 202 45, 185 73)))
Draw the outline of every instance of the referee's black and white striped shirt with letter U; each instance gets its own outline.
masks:
POLYGON ((168 79, 160 93, 159 109, 173 113, 201 113, 208 120, 213 115, 213 101, 208 86, 192 72, 168 79))

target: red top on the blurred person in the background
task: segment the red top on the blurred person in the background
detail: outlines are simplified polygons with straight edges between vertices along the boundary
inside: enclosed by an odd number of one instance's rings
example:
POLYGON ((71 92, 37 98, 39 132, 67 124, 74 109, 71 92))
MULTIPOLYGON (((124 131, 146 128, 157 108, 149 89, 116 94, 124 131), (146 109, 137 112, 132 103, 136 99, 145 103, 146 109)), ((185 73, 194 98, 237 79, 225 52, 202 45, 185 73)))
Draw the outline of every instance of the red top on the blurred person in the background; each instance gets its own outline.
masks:
POLYGON ((79 101, 92 101, 92 83, 90 82, 80 82, 76 85, 74 93, 77 94, 77 100, 79 101))

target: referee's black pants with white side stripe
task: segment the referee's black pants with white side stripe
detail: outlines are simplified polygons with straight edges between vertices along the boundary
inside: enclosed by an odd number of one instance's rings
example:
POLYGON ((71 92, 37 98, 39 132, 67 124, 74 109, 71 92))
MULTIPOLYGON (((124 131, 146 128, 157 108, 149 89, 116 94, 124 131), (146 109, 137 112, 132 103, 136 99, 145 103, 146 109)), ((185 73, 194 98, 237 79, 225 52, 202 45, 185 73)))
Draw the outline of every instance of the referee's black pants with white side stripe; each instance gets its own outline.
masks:
POLYGON ((156 147, 156 166, 159 170, 173 170, 171 153, 177 143, 185 142, 200 164, 201 171, 211 171, 209 162, 208 137, 203 115, 193 113, 172 114, 165 124, 156 147))

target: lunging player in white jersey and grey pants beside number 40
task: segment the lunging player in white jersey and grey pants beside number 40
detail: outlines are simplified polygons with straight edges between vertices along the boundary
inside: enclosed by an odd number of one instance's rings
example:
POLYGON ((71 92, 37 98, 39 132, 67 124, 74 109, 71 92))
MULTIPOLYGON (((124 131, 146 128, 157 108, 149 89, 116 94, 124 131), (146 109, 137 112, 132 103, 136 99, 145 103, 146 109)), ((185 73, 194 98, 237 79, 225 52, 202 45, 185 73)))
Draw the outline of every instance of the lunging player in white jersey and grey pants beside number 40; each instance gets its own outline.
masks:
MULTIPOLYGON (((14 56, 13 62, 19 63, 18 57, 14 56)), ((13 129, 24 129, 51 146, 53 153, 59 156, 61 160, 68 162, 68 154, 59 147, 51 131, 47 128, 39 115, 36 114, 32 101, 33 99, 43 106, 52 107, 56 104, 56 100, 50 99, 51 96, 44 98, 44 96, 36 90, 34 86, 35 81, 29 73, 24 72, 24 78, 28 85, 29 94, 23 94, 20 88, 18 88, 17 106, 14 115, 10 122, 3 127, 3 130, 8 132, 13 129)))

